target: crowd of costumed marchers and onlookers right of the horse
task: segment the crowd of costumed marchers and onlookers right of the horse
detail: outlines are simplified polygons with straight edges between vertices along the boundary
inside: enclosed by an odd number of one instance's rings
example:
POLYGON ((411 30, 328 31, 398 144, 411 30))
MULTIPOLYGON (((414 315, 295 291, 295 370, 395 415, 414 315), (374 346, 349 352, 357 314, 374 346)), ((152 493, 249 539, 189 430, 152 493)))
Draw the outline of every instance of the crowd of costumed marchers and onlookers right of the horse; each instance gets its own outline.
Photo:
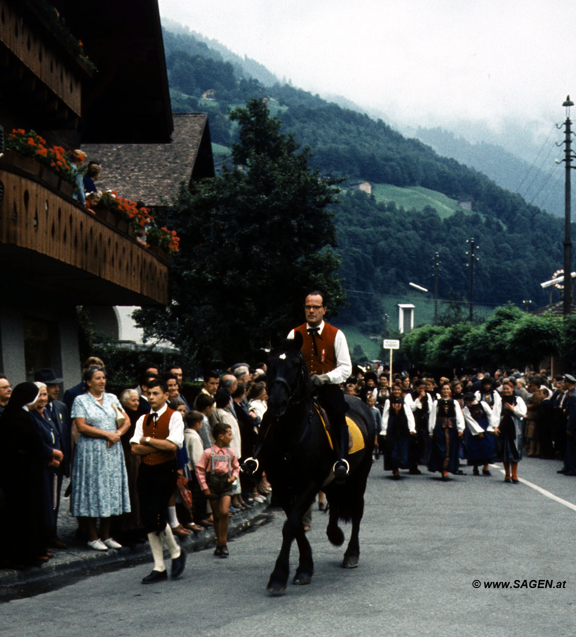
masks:
MULTIPOLYGON (((434 437, 434 419, 439 418, 436 404, 441 400, 455 403, 454 413, 448 416, 454 420, 454 432, 460 431, 461 438, 455 443, 458 461, 448 462, 450 466, 445 467, 444 477, 449 472, 462 473, 462 461, 473 466, 474 475, 480 475, 480 465, 484 475, 490 475, 489 462, 501 460, 505 462, 505 468, 506 463, 510 463, 506 480, 518 482, 515 471, 522 453, 528 457, 562 459, 565 466, 558 473, 576 475, 570 448, 572 425, 568 422, 569 398, 576 386, 572 375, 550 377, 546 369, 526 373, 517 369, 496 369, 492 375, 468 370, 452 378, 435 378, 430 373, 405 371, 394 373, 390 385, 390 368, 387 366, 356 367, 354 371, 355 374, 343 383, 343 391, 362 399, 371 408, 378 433, 375 459, 383 454, 385 469, 393 471, 395 478, 399 478, 400 468, 420 473, 418 465, 424 464, 431 471, 439 470, 431 467, 434 465, 431 461, 434 443, 431 447, 425 434, 434 437), (390 411, 394 404, 395 413, 390 411), (392 434, 394 444, 390 440, 390 433, 395 431, 394 427, 388 429, 392 420, 396 427, 401 423, 404 452, 397 443, 397 434, 392 434), (479 422, 483 425, 480 429, 479 422), (510 429, 510 433, 504 435, 500 429, 512 427, 512 422, 518 431, 510 429), (480 440, 484 441, 482 453, 476 455, 480 440), (487 441, 491 445, 487 446, 487 441), (508 458, 510 441, 513 441, 513 450, 508 458)), ((443 447, 443 453, 445 451, 443 447)))

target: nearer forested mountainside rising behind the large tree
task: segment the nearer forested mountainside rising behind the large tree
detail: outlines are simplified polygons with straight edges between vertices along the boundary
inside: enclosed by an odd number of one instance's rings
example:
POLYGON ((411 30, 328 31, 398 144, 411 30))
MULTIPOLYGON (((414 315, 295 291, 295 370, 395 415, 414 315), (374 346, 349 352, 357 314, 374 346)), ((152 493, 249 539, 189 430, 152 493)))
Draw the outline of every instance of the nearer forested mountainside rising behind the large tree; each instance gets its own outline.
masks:
POLYGON ((192 34, 165 31, 164 37, 172 108, 209 113, 213 143, 230 148, 235 141, 235 125, 227 117, 230 106, 263 97, 272 115, 283 122, 283 130, 312 148, 311 164, 324 174, 348 177, 349 182, 421 186, 456 201, 473 201, 473 210, 441 218, 430 208, 407 211, 361 192, 341 194, 340 203, 333 206, 340 274, 346 289, 366 292, 370 299, 362 307, 344 309, 341 318, 379 331, 381 295, 401 297, 408 282, 428 283, 434 252, 441 255, 439 296, 448 298, 452 291, 467 298, 464 253, 469 238, 480 246, 475 301, 546 303, 547 294, 539 284, 562 267, 561 220, 499 187, 484 173, 442 157, 422 141, 405 138, 382 120, 286 83, 265 86, 219 52, 208 54, 207 45, 192 34), (209 90, 211 99, 204 99, 209 90))

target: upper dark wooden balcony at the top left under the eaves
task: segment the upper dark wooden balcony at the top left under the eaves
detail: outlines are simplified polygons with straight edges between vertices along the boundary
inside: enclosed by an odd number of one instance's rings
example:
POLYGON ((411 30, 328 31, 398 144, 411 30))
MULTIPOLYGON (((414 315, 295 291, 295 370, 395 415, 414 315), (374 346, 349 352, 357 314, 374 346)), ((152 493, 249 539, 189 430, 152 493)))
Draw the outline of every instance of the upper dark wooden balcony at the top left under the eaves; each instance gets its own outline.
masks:
POLYGON ((81 115, 82 80, 91 75, 26 3, 0 0, 0 90, 20 103, 20 119, 45 127, 81 115))

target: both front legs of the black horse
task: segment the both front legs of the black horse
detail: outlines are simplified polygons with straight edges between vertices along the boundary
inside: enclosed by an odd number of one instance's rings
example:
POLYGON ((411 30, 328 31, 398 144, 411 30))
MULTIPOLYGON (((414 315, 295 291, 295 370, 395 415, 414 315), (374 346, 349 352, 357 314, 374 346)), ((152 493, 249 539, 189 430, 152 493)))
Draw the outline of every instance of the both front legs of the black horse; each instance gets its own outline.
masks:
POLYGON ((299 566, 295 575, 295 583, 309 583, 314 571, 312 561, 312 549, 304 535, 304 527, 302 526, 302 516, 312 504, 316 497, 315 490, 307 490, 304 494, 290 506, 288 503, 281 503, 286 512, 287 519, 282 527, 282 547, 280 554, 276 559, 274 570, 270 575, 267 590, 272 595, 280 595, 286 590, 286 582, 288 582, 288 574, 290 573, 290 548, 292 541, 296 539, 299 550, 299 566), (302 581, 296 581, 296 580, 302 581), (307 580, 307 581, 306 581, 307 580))

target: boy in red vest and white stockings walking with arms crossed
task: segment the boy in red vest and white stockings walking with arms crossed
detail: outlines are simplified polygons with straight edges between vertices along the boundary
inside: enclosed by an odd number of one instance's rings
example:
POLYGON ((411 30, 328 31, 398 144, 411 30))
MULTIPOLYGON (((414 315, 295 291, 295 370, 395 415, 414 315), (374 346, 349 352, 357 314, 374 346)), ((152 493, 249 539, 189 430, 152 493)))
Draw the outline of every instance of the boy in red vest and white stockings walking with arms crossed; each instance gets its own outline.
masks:
POLYGON ((151 412, 138 419, 130 445, 134 455, 142 456, 137 482, 140 517, 154 557, 154 569, 142 583, 151 584, 168 578, 163 543, 172 557, 173 579, 182 574, 186 564, 186 553, 166 522, 168 501, 176 488, 176 450, 184 442, 184 421, 180 412, 166 405, 169 394, 165 382, 151 380, 146 393, 151 412))

